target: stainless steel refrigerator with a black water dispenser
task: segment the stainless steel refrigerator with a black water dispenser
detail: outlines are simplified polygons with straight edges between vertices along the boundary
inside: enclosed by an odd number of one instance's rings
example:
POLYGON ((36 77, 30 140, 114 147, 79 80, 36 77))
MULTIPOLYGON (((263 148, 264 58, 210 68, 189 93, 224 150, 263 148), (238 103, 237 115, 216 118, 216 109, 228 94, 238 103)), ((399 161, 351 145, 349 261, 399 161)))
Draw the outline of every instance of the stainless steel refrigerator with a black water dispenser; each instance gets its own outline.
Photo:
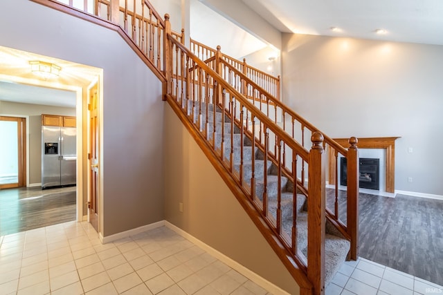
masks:
POLYGON ((42 189, 75 185, 76 133, 74 127, 42 126, 42 189))

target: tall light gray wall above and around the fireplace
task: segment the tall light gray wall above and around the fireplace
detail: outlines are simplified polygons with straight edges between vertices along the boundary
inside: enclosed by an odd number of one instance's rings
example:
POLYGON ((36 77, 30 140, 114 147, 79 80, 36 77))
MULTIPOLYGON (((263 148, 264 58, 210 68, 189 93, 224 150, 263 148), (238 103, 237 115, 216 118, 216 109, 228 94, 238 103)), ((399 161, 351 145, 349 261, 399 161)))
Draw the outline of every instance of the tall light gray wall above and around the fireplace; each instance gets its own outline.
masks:
POLYGON ((443 195, 443 46, 283 34, 282 77, 284 103, 330 137, 400 136, 396 190, 443 195))

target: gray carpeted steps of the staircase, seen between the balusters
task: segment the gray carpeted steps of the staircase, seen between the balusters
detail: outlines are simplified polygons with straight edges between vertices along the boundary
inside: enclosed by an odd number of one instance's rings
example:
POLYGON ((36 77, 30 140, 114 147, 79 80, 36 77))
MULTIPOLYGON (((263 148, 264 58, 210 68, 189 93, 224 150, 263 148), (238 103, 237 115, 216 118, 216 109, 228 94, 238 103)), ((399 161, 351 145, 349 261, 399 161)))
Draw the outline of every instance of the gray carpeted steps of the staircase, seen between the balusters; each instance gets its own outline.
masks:
MULTIPOLYGON (((192 110, 190 113, 193 114, 192 120, 195 124, 198 124, 199 114, 201 114, 201 118, 208 119, 207 122, 202 121, 202 124, 215 126, 215 133, 209 133, 208 139, 209 141, 212 140, 213 134, 215 134, 215 149, 221 151, 224 148, 225 160, 230 162, 232 159, 235 174, 240 175, 240 169, 242 168, 243 182, 248 182, 252 175, 254 175, 256 202, 259 202, 264 207, 263 196, 266 193, 269 218, 275 222, 278 218, 278 211, 281 211, 283 234, 288 237, 291 236, 293 225, 296 225, 297 247, 307 257, 308 210, 305 195, 299 192, 296 193, 296 218, 294 220, 293 182, 286 177, 282 177, 279 183, 278 166, 273 164, 271 160, 265 160, 266 157, 261 149, 253 148, 251 138, 242 135, 239 126, 232 124, 230 118, 224 115, 221 108, 214 104, 193 106, 194 102, 192 101, 186 101, 186 104, 188 104, 188 110, 192 110), (207 116, 206 112, 208 112, 207 116), (222 129, 226 130, 224 138, 222 138, 222 129), (231 142, 231 140, 233 141, 231 142), (280 202, 278 200, 279 193, 280 202)), ((345 261, 350 251, 350 241, 328 221, 325 223, 325 230, 325 285, 327 285, 338 271, 338 267, 345 261)))

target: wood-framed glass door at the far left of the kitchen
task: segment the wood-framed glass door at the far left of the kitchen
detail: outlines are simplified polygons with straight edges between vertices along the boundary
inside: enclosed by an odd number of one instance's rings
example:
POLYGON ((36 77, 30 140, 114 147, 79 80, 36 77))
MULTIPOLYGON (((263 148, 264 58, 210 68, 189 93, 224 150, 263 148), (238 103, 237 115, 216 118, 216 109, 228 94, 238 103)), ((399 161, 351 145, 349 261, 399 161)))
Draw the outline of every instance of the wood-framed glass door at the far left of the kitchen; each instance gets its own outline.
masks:
POLYGON ((26 119, 0 116, 0 189, 26 187, 26 119))

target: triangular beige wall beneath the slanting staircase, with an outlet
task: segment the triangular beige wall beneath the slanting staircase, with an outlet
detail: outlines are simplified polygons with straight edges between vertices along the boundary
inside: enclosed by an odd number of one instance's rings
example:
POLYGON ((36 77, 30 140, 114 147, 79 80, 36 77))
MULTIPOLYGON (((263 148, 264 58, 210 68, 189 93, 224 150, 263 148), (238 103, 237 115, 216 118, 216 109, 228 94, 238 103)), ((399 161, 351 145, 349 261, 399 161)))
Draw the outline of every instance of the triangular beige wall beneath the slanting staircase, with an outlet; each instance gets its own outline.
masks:
POLYGON ((168 104, 163 124, 165 219, 289 294, 298 294, 298 285, 168 104))

